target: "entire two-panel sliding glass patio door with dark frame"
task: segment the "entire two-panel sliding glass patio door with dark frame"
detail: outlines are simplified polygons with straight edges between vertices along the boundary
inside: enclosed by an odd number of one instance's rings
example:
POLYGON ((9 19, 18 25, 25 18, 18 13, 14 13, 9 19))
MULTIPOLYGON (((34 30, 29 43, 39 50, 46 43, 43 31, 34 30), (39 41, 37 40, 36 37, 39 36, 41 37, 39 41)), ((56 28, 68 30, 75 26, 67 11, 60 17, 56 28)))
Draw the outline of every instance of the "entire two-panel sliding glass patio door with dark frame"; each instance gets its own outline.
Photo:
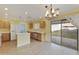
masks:
POLYGON ((51 42, 78 49, 78 29, 69 21, 51 22, 51 42))

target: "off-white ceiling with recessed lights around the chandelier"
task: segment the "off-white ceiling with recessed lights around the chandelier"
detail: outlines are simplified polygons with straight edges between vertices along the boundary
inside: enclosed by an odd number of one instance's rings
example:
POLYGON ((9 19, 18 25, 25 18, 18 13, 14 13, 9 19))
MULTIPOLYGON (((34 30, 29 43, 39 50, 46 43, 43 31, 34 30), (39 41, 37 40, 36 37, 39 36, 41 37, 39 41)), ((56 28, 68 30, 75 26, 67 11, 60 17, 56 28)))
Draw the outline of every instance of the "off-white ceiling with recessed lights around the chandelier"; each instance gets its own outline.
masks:
MULTIPOLYGON (((39 18, 43 17, 46 12, 46 4, 0 4, 0 17, 5 17, 8 14, 9 19, 25 19, 26 17, 39 18), (4 8, 8 8, 7 11, 4 8), (27 12, 27 15, 25 15, 27 12)), ((48 5, 49 6, 49 5, 48 5)), ((73 9, 79 8, 79 4, 55 4, 54 8, 60 9, 60 14, 70 12, 73 9)))

